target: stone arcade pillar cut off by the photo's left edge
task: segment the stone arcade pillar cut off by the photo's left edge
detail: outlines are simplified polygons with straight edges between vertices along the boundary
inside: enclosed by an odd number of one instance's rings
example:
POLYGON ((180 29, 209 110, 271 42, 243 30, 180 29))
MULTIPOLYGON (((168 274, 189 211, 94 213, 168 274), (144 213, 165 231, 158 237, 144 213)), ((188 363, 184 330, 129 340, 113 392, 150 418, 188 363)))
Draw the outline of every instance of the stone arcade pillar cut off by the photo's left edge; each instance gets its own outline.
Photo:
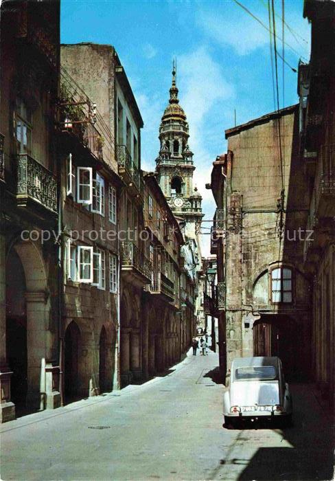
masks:
POLYGON ((12 372, 6 358, 5 323, 5 236, 0 233, 0 423, 15 419, 15 406, 10 401, 12 372))

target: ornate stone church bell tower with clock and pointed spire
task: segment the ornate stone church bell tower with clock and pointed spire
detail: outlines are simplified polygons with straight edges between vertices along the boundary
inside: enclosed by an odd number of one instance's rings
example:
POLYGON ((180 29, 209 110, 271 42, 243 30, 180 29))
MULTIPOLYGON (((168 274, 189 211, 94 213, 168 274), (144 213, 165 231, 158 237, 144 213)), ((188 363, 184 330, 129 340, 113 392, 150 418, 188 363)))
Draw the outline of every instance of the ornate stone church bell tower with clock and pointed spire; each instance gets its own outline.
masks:
POLYGON ((188 139, 189 125, 179 104, 174 62, 170 100, 159 127, 161 148, 156 159, 156 171, 159 185, 172 212, 178 219, 185 220, 185 234, 194 238, 200 248, 198 237, 204 214, 201 209, 202 198, 193 186, 195 166, 188 139))

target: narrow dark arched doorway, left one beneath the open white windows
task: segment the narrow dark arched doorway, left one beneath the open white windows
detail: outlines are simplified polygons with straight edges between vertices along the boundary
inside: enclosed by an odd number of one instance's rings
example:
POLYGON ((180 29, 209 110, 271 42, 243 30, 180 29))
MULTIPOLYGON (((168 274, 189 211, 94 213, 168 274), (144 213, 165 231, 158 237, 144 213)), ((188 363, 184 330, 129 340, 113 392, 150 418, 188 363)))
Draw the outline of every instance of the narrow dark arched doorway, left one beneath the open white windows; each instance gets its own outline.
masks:
POLYGON ((78 398, 78 357, 80 330, 76 322, 70 322, 65 332, 65 402, 69 403, 78 398))

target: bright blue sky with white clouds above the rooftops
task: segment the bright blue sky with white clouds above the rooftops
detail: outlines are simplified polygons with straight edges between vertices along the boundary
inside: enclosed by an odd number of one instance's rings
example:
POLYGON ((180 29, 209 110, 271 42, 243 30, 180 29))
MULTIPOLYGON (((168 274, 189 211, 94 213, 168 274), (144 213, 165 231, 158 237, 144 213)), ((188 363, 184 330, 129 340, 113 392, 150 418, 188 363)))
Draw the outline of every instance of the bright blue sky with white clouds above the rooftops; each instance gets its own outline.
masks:
MULTIPOLYGON (((266 0, 241 0, 268 25, 266 0)), ((281 0, 275 1, 281 37, 281 0)), ((297 68, 310 52, 310 26, 303 1, 285 1, 286 61, 297 68), (293 33, 292 33, 293 31, 293 33), (294 52, 295 50, 296 52, 294 52)), ((227 148, 224 130, 275 110, 269 33, 233 0, 61 0, 61 41, 109 43, 126 69, 144 120, 142 168, 154 170, 158 131, 168 100, 172 58, 177 86, 190 128, 195 184, 203 195, 205 219, 213 216, 205 190, 211 162, 227 148)), ((281 41, 277 47, 281 53, 281 41)), ((297 102, 297 74, 279 60, 280 107, 297 102)), ((207 223, 208 225, 208 223, 207 223)), ((203 237, 204 253, 208 237, 203 237)))

